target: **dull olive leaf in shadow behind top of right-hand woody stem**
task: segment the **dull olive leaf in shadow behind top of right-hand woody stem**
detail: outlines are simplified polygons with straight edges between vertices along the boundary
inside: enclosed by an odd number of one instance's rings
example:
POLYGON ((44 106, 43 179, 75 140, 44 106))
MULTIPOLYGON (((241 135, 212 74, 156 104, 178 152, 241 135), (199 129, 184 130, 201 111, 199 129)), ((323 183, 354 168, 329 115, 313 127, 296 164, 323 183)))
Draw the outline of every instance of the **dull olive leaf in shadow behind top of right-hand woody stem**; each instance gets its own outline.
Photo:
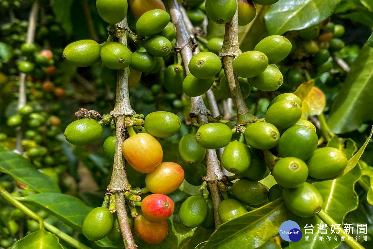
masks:
POLYGON ((238 27, 239 48, 242 52, 254 50, 261 39, 267 37, 268 32, 264 24, 264 14, 268 6, 257 7, 257 16, 246 26, 238 27))

